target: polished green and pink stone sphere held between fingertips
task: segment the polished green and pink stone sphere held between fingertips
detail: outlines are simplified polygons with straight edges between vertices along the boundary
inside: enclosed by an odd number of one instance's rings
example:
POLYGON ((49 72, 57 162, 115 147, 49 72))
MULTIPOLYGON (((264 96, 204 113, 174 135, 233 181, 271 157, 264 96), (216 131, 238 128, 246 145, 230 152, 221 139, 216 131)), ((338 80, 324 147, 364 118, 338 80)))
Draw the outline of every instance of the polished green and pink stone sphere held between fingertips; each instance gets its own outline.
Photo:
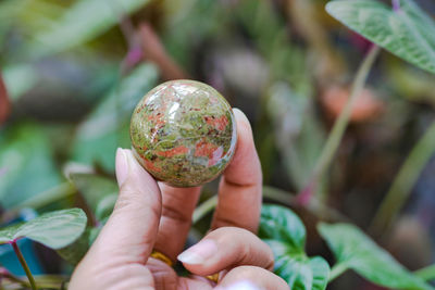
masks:
POLYGON ((130 123, 133 152, 156 179, 195 187, 217 177, 237 141, 232 108, 212 87, 173 80, 149 91, 130 123))

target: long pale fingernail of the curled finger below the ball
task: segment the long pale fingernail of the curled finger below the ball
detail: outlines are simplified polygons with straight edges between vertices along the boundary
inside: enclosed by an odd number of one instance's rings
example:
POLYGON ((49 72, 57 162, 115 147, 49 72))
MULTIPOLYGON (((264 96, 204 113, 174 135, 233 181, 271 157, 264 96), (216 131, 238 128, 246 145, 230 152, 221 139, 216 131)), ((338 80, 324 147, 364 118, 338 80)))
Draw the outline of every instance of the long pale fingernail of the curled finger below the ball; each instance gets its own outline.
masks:
POLYGON ((217 253, 217 245, 213 240, 202 240, 194 247, 181 253, 177 259, 189 265, 203 264, 217 253))

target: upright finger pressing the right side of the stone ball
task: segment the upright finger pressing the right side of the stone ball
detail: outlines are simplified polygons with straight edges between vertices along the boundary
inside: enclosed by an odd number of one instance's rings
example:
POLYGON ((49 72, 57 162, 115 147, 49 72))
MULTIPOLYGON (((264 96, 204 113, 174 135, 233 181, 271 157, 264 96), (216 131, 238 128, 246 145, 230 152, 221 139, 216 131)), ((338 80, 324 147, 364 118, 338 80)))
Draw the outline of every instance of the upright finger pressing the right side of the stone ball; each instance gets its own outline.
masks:
POLYGON ((211 228, 236 226, 257 231, 260 219, 262 174, 245 114, 234 109, 237 122, 237 148, 220 184, 219 203, 211 228))

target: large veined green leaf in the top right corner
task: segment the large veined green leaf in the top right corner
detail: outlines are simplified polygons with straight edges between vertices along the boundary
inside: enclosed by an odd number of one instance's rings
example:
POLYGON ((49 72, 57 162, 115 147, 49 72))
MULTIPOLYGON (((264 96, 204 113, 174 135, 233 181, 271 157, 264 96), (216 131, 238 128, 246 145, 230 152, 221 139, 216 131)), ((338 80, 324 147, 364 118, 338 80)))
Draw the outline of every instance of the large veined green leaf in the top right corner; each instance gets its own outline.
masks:
POLYGON ((337 0, 326 4, 336 20, 393 54, 435 74, 435 23, 412 0, 400 9, 375 0, 337 0))

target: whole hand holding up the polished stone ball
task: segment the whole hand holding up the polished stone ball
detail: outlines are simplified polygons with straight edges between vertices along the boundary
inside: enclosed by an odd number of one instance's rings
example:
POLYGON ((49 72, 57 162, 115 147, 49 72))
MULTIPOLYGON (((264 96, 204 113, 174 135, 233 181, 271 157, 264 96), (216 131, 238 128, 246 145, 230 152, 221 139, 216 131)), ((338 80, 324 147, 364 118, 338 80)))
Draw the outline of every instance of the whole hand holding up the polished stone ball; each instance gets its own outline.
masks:
POLYGON ((120 197, 69 289, 207 290, 215 285, 204 276, 215 273, 220 273, 216 289, 289 289, 270 272, 272 252, 252 234, 260 217, 261 167, 249 122, 241 111, 234 112, 238 143, 220 182, 211 231, 181 254, 200 188, 157 184, 129 150, 119 149, 120 197), (192 276, 178 277, 167 264, 150 257, 153 250, 172 261, 178 256, 192 276), (245 288, 237 287, 241 283, 245 288))

